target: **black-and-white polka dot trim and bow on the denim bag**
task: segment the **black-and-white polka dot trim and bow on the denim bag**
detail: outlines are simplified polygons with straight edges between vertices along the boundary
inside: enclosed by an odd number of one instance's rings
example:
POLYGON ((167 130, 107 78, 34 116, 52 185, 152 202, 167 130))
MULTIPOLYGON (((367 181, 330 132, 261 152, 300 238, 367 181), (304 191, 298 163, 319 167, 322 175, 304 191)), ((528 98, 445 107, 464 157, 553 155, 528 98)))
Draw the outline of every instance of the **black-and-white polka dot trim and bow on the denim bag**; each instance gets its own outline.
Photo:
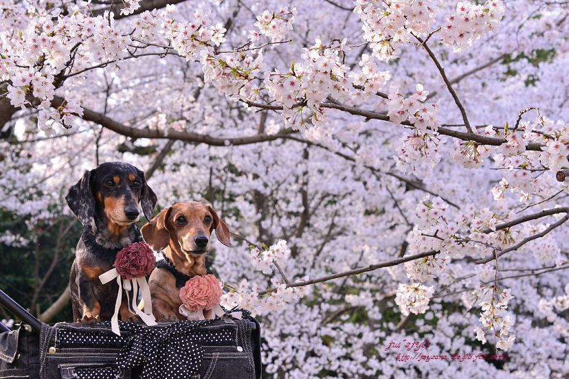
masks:
POLYGON ((154 327, 120 321, 121 336, 113 334, 110 322, 93 325, 60 324, 59 347, 118 348, 112 368, 86 369, 78 378, 120 377, 123 369, 142 367, 142 379, 186 379, 199 373, 205 346, 236 346, 237 328, 221 320, 180 321, 154 327))

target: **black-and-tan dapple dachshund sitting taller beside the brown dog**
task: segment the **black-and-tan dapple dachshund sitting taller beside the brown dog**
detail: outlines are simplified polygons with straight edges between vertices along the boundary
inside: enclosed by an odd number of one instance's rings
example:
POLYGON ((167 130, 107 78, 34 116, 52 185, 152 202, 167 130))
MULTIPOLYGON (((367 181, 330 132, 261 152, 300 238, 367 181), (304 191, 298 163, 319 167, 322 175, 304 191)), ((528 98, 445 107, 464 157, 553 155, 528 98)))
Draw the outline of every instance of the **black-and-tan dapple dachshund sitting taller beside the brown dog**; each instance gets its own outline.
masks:
MULTIPOLYGON (((124 246, 141 241, 135 224, 140 218, 139 203, 150 220, 156 195, 146 184, 144 172, 129 163, 109 162, 85 172, 69 188, 65 198, 83 224, 69 276, 74 320, 85 323, 110 320, 118 285, 115 281, 103 285, 99 275, 112 268, 116 253, 124 246)), ((136 319, 129 312, 126 296, 120 317, 136 319)))

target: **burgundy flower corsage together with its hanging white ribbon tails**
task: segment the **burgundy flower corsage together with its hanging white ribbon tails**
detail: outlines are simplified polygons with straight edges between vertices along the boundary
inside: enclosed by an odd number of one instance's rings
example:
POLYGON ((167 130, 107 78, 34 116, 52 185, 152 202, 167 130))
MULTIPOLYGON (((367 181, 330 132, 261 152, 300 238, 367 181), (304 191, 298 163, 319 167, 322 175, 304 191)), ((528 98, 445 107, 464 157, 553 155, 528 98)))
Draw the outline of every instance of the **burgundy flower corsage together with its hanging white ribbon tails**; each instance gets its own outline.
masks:
POLYGON ((116 278, 119 286, 117 301, 115 302, 115 313, 111 319, 111 330, 120 336, 118 325, 118 314, 122 303, 122 289, 126 290, 126 303, 131 314, 136 314, 146 325, 157 325, 152 314, 152 299, 150 288, 146 283, 146 275, 150 275, 156 258, 150 247, 144 242, 135 242, 126 246, 117 253, 115 267, 106 273, 102 273, 99 279, 102 284, 107 284, 116 278), (136 304, 138 290, 144 301, 144 312, 136 304), (131 303, 130 291, 133 291, 131 303))

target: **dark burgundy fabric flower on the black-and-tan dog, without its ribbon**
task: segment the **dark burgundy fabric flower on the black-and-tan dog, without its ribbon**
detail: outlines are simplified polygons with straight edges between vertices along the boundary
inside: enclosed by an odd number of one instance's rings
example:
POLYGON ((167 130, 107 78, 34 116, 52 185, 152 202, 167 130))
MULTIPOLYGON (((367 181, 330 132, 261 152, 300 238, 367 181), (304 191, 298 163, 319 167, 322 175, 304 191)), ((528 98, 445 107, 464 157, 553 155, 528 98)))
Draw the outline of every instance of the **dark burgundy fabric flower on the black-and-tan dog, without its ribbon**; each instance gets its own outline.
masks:
POLYGON ((115 268, 122 279, 133 279, 150 275, 155 262, 156 257, 150 246, 135 242, 117 253, 115 268))

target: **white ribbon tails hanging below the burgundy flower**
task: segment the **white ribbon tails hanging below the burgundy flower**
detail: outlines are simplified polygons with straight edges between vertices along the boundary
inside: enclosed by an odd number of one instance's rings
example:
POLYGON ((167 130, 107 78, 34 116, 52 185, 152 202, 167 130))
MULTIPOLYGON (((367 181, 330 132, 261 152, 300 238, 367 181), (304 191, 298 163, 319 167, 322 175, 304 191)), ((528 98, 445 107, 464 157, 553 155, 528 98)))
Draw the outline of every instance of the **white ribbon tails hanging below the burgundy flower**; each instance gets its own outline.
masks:
POLYGON ((133 277, 132 279, 121 279, 116 268, 111 268, 111 270, 106 273, 99 275, 99 279, 102 284, 107 284, 113 279, 117 279, 119 286, 119 291, 117 295, 117 301, 115 303, 115 313, 111 319, 111 330, 113 333, 120 336, 120 329, 118 327, 118 314, 120 310, 120 304, 122 303, 122 288, 126 290, 126 301, 129 308, 129 312, 132 314, 137 314, 146 325, 157 325, 156 320, 152 314, 152 299, 150 298, 150 288, 148 288, 148 283, 146 283, 145 277, 133 277), (138 294, 138 288, 140 287, 140 292, 142 295, 142 300, 144 301, 144 312, 140 310, 136 305, 136 299, 138 294), (131 298, 129 292, 133 290, 133 301, 131 303, 131 298), (132 309, 131 309, 132 305, 132 309))

